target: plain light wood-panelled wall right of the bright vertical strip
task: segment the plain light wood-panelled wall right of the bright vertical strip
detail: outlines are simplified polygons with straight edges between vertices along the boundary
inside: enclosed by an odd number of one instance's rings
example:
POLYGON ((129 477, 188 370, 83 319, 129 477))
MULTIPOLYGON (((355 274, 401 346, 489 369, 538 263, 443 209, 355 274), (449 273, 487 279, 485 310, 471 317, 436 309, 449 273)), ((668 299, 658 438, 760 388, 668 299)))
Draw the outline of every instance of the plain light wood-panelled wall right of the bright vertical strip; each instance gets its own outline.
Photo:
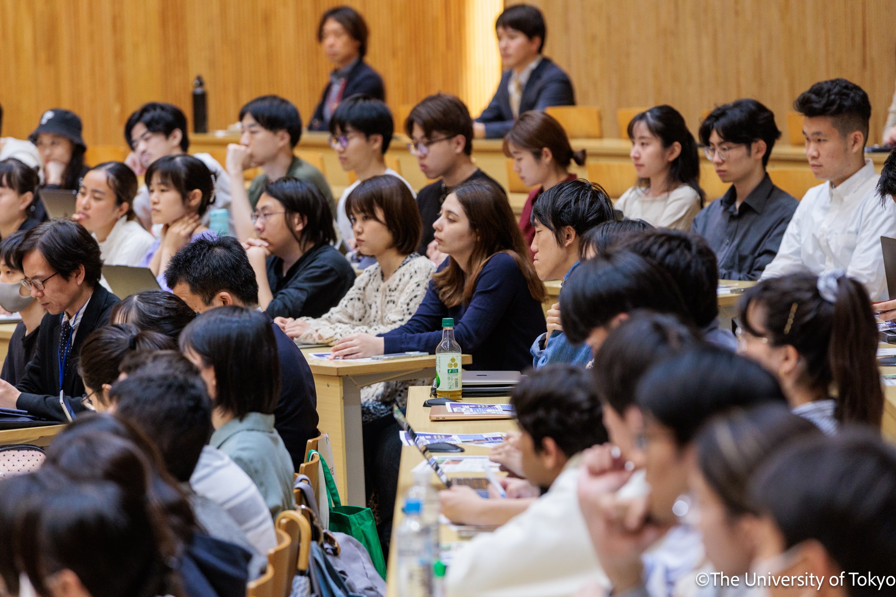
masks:
POLYGON ((528 1, 545 14, 545 54, 579 104, 602 109, 605 136, 618 135, 617 107, 670 104, 696 132, 704 109, 755 98, 786 138, 794 98, 845 77, 871 98, 880 141, 896 83, 894 0, 528 1))

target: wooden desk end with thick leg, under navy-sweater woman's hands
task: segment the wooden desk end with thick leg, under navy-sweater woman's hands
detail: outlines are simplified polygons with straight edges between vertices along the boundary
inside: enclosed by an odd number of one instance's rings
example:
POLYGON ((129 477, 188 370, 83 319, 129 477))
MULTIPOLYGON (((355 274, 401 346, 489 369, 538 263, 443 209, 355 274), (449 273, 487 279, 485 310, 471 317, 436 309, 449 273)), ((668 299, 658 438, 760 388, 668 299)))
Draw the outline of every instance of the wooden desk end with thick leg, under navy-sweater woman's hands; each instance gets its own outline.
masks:
MULTIPOLYGON (((364 440, 361 431, 361 388, 380 381, 435 378, 435 354, 382 362, 330 361, 309 356, 327 348, 305 348, 317 390, 318 429, 330 434, 336 461, 336 484, 343 503, 366 506, 364 440)), ((464 354, 461 363, 473 362, 464 354)), ((413 389, 413 388, 411 388, 413 389)), ((428 392, 429 387, 422 388, 428 392)))

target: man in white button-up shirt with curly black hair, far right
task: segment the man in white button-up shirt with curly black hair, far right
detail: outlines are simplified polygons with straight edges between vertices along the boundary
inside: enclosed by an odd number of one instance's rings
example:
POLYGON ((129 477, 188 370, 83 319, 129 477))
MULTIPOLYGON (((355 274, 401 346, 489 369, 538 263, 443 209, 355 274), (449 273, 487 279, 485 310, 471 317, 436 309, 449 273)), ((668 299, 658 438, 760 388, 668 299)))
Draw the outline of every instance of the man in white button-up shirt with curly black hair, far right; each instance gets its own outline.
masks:
POLYGON ((881 236, 896 236, 896 206, 882 202, 865 158, 871 103, 855 83, 815 83, 794 102, 803 114, 806 158, 815 178, 794 213, 778 255, 760 279, 845 269, 873 301, 887 298, 881 236))

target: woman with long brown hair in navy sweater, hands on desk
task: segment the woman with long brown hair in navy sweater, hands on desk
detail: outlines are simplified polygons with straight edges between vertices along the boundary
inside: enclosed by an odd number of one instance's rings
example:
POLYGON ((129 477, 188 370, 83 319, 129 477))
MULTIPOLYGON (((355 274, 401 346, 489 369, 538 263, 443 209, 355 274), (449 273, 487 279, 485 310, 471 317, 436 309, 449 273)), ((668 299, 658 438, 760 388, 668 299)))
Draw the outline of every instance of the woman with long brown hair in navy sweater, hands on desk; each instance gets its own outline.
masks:
POLYGON ((541 303, 547 296, 504 192, 483 181, 462 183, 445 198, 433 227, 439 251, 449 257, 414 316, 380 337, 344 337, 333 346, 332 356, 408 350, 434 354, 442 339, 442 318, 452 317, 454 337, 473 356, 470 370, 530 367, 529 347, 546 329, 541 303))

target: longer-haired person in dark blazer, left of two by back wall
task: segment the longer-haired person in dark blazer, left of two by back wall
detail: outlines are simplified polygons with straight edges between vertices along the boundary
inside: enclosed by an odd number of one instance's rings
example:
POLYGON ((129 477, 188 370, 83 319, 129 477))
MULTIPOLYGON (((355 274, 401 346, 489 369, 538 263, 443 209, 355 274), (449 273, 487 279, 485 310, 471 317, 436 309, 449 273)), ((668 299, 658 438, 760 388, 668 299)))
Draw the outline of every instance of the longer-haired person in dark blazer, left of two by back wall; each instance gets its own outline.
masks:
POLYGON ((386 94, 383 78, 364 62, 367 24, 354 8, 337 6, 323 13, 317 26, 317 41, 336 68, 323 88, 308 130, 329 131, 330 118, 343 99, 366 94, 385 101, 386 94))

